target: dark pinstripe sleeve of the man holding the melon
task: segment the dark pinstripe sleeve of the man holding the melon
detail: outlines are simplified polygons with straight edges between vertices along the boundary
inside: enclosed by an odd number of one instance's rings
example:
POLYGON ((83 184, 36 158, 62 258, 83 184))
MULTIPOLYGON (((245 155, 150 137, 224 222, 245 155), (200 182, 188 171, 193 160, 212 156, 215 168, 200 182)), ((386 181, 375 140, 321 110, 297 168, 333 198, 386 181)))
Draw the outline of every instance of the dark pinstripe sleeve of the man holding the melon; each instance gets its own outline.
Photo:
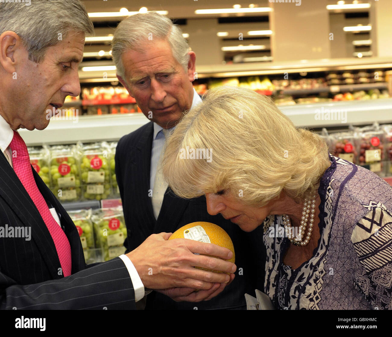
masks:
POLYGON ((135 309, 134 289, 120 258, 62 279, 15 285, 0 273, 1 309, 135 309))

